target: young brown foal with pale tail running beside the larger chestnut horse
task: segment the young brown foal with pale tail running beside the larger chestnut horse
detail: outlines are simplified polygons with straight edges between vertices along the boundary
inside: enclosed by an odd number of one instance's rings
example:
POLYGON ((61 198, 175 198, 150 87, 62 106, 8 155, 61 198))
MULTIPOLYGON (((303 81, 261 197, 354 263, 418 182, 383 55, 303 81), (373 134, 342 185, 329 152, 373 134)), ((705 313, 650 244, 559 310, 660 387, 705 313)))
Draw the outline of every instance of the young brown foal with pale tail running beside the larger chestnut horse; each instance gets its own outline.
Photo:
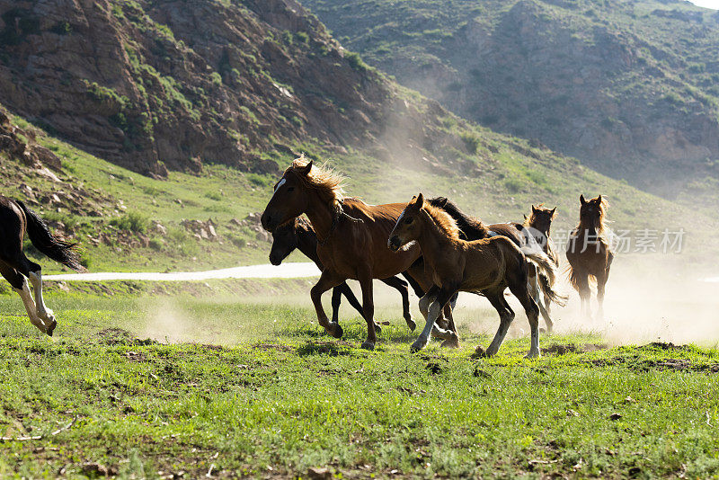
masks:
MULTIPOLYGON (((413 197, 387 239, 387 246, 399 251, 403 245, 417 243, 422 257, 432 272, 434 287, 420 300, 420 311, 427 323, 412 345, 413 351, 424 348, 439 312, 457 291, 481 292, 500 315, 501 324, 486 354, 494 355, 509 330, 514 312, 504 299, 504 290, 519 298, 531 327, 531 348, 528 357, 539 356, 539 308, 529 295, 528 263, 554 280, 555 267, 546 253, 526 249, 527 254, 506 236, 492 236, 468 242, 459 237, 457 222, 443 209, 424 201, 422 193, 413 197)), ((457 330, 450 319, 448 338, 457 339, 457 330)))

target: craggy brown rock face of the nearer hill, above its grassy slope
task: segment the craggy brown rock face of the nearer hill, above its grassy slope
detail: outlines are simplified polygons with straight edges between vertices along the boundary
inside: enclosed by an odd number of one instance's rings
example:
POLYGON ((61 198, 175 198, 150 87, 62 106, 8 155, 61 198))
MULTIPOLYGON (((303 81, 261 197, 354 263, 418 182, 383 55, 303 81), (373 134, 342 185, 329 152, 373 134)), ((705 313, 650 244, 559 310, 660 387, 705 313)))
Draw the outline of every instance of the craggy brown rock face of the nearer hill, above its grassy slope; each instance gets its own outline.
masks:
POLYGON ((390 120, 424 141, 427 106, 294 0, 0 0, 0 19, 0 103, 136 172, 275 172, 308 139, 386 152, 390 120))

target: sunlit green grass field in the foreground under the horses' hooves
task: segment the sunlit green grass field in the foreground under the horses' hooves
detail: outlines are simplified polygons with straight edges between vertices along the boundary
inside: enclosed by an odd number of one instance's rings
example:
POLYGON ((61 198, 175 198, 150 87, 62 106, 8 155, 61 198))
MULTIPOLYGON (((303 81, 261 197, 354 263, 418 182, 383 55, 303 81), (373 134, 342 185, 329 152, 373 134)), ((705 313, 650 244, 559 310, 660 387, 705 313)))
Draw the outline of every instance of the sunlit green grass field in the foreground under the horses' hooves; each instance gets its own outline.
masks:
POLYGON ((719 475, 715 348, 570 331, 524 360, 515 328, 474 360, 496 328, 477 305, 461 349, 413 355, 393 297, 368 352, 350 310, 324 335, 306 281, 52 289, 52 340, 0 295, 0 476, 719 475))

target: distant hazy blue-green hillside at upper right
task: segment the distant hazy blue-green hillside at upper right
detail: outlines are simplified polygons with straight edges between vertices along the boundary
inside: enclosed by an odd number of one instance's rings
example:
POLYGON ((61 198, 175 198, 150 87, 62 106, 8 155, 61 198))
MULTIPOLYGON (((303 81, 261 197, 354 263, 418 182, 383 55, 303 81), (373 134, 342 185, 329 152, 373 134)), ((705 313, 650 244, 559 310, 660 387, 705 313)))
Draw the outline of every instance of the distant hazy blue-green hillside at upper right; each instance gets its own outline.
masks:
POLYGON ((674 0, 304 4, 467 119, 668 196, 716 186, 719 13, 674 0))

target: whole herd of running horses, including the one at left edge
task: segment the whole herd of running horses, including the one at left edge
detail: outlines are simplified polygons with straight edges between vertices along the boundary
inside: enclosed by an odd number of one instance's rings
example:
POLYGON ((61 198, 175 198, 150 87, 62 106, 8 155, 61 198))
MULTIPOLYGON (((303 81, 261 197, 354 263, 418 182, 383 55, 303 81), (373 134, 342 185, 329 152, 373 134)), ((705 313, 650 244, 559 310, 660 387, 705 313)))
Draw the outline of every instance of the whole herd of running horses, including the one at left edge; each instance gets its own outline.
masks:
MULTIPOLYGON (((551 331, 550 305, 564 306, 567 299, 555 288, 559 259, 549 240, 556 209, 532 206, 521 224, 485 225, 444 197, 425 199, 420 193, 409 203, 368 205, 345 197, 342 182, 341 175, 300 156, 275 184, 262 213, 262 227, 273 236, 272 264, 280 264, 299 249, 322 271, 310 297, 327 333, 342 337, 338 311, 344 296, 367 322, 362 348, 374 348, 380 326, 374 321, 372 282, 378 279, 401 293, 404 320, 411 330, 416 324, 410 313, 409 287, 420 297, 425 325, 412 344, 413 351, 422 350, 431 336, 443 340, 442 346, 457 347, 452 308, 457 293, 466 291, 486 297, 500 316, 499 329, 485 351, 490 356, 499 350, 514 318, 504 298, 504 291, 510 289, 528 316, 528 357, 540 354, 539 315, 551 331), (346 280, 359 281, 361 303, 346 280), (332 321, 321 302, 329 289, 333 289, 332 321)), ((590 279, 596 280, 601 315, 613 257, 604 235, 606 201, 601 196, 592 200, 581 196, 580 200, 580 223, 566 252, 570 282, 579 291, 582 313, 589 315, 590 279)), ((50 233, 22 201, 0 196, 0 273, 22 298, 31 323, 52 335, 57 321, 42 298, 40 265, 22 252, 25 233, 52 260, 75 271, 84 268, 75 243, 50 233)))

